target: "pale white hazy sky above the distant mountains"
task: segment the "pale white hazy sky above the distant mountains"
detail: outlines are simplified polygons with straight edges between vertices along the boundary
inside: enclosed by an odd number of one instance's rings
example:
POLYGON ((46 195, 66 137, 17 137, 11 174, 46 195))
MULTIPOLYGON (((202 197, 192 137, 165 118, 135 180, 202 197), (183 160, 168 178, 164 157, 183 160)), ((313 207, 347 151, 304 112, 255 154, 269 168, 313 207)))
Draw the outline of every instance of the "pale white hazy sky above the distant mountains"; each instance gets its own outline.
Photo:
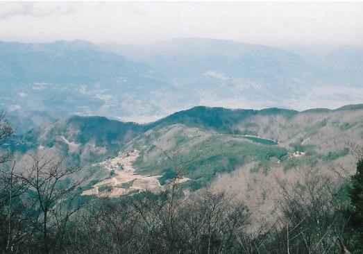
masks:
POLYGON ((208 37, 363 46, 363 3, 0 2, 0 40, 146 44, 208 37))

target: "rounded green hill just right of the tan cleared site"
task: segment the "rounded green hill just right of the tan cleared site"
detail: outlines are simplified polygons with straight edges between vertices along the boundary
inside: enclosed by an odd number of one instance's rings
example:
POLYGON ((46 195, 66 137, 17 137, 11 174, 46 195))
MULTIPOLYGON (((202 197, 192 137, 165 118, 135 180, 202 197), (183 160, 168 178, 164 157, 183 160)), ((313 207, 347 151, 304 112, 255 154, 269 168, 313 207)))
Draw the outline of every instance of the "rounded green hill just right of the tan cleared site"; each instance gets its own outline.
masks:
POLYGON ((287 155, 287 150, 280 146, 183 124, 154 128, 129 142, 124 151, 133 149, 140 151, 135 161, 138 171, 163 175, 163 180, 172 176, 174 164, 167 156, 176 151, 178 162, 191 161, 183 176, 191 178, 193 181, 189 184, 194 187, 207 185, 217 174, 231 172, 253 161, 267 172, 273 158, 276 162, 287 155))

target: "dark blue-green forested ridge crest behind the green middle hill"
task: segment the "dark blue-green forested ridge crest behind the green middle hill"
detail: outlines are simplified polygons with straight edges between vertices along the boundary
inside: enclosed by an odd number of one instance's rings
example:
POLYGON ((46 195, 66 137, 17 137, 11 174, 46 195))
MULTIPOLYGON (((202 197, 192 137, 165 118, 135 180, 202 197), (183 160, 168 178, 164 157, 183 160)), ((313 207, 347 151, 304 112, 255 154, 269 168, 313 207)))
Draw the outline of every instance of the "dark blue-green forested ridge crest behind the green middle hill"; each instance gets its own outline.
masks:
MULTIPOLYGON (((119 121, 116 119, 108 119, 103 116, 79 116, 72 115, 65 118, 57 119, 49 124, 44 124, 29 130, 26 135, 32 132, 42 132, 43 126, 62 124, 63 126, 78 126, 78 128, 88 128, 94 135, 101 134, 102 131, 110 131, 113 134, 117 134, 118 131, 124 132, 125 127, 133 129, 135 128, 138 133, 144 133, 152 128, 158 126, 169 126, 173 124, 184 124, 186 126, 196 126, 201 128, 210 128, 217 131, 225 131, 226 133, 233 134, 233 126, 241 121, 248 120, 249 117, 264 117, 269 115, 276 115, 285 119, 297 115, 306 115, 309 113, 321 114, 326 112, 342 112, 342 111, 355 111, 363 110, 363 104, 345 105, 334 110, 326 108, 314 108, 310 110, 288 110, 283 108, 264 108, 261 110, 253 109, 230 109, 222 107, 208 107, 208 106, 195 106, 187 110, 181 110, 174 112, 173 114, 163 117, 157 121, 153 121, 147 124, 140 124, 135 121, 119 121), (223 118, 223 119, 222 119, 223 118), (199 119, 199 121, 196 121, 199 119), (226 124, 226 126, 223 126, 226 124), (101 127, 99 127, 99 126, 101 127), (107 128, 106 128, 107 127, 107 128), (96 130, 94 130, 96 128, 96 130)), ((19 135, 19 137, 22 135, 19 135)), ((23 135, 24 136, 24 135, 23 135)))

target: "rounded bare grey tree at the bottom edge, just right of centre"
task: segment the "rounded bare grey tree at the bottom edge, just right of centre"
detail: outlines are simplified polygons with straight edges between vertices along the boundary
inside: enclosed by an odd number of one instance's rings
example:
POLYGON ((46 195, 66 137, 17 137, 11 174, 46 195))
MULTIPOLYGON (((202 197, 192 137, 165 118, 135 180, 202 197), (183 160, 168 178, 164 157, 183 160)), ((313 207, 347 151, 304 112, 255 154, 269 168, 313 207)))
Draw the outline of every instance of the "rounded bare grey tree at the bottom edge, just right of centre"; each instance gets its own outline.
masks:
POLYGON ((248 223, 244 203, 203 189, 188 196, 178 209, 178 247, 185 253, 237 252, 238 238, 248 223))

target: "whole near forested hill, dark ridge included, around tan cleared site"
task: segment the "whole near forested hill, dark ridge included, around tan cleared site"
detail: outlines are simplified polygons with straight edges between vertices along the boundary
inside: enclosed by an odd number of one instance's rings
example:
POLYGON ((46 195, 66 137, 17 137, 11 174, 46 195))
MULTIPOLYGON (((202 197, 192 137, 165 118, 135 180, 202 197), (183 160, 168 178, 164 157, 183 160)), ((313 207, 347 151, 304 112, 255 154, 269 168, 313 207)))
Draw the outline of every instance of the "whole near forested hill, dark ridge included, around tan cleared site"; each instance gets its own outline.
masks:
MULTIPOLYGON (((128 232, 137 231, 143 239, 149 239, 152 233, 143 229, 146 225, 163 223, 158 219, 168 214, 169 201, 174 198, 176 204, 172 205, 175 205, 177 212, 173 216, 178 221, 178 229, 174 233, 190 225, 185 222, 186 219, 194 216, 204 218, 205 212, 216 205, 218 215, 215 211, 210 212, 221 222, 217 223, 217 229, 223 225, 237 227, 222 230, 216 236, 220 241, 228 238, 228 232, 233 232, 233 235, 243 232, 246 234, 244 237, 248 237, 246 241, 262 241, 259 236, 253 235, 262 228, 262 236, 267 237, 271 243, 269 246, 274 247, 265 246, 257 251, 281 253, 281 250, 285 250, 285 238, 283 242, 278 239, 285 237, 287 228, 279 223, 280 220, 288 220, 300 230, 290 232, 296 236, 291 240, 291 249, 307 248, 300 241, 304 237, 321 234, 323 230, 323 237, 311 239, 311 245, 324 253, 329 248, 321 245, 321 241, 331 246, 336 242, 335 235, 339 235, 339 239, 351 250, 362 249, 357 244, 360 228, 348 226, 349 230, 346 229, 346 221, 353 221, 349 214, 355 212, 355 208, 348 203, 351 194, 347 194, 346 188, 355 184, 348 180, 357 168, 356 155, 363 146, 362 139, 363 105, 303 112, 278 108, 230 110, 199 106, 176 112, 151 124, 124 123, 105 117, 58 119, 33 128, 24 135, 10 137, 1 145, 1 154, 6 154, 10 146, 16 162, 15 187, 22 186, 17 189, 16 193, 21 199, 15 197, 17 203, 13 205, 19 206, 13 212, 28 218, 22 225, 13 221, 12 225, 16 225, 14 228, 22 232, 44 226, 44 221, 39 221, 39 217, 34 217, 22 206, 22 201, 34 201, 31 212, 44 214, 33 195, 34 187, 23 192, 28 185, 19 185, 23 183, 22 180, 40 189, 40 193, 43 193, 42 188, 55 186, 56 194, 62 195, 47 207, 52 209, 49 215, 52 225, 57 226, 46 226, 51 232, 47 237, 53 242, 66 241, 58 241, 53 235, 60 232, 74 234, 74 237, 82 234, 83 240, 77 243, 85 248, 82 244, 92 245, 100 235, 92 237, 90 242, 87 242, 87 237, 102 228, 103 242, 109 241, 118 246, 110 234, 117 232, 124 237, 125 232, 110 229, 110 225, 115 226, 115 221, 121 220, 128 227, 132 218, 125 214, 138 217, 138 212, 143 216, 146 214, 146 219, 153 218, 153 222, 144 221, 145 217, 140 216, 136 228, 128 228, 128 232), (37 172, 40 178, 35 177, 34 173, 37 172), (37 179, 45 184, 37 185, 37 179), (49 182, 54 179, 56 182, 49 182), (174 186, 175 193, 169 192, 173 189, 171 186, 174 186), (301 196, 307 198, 301 200, 301 196), (62 206, 65 203, 66 212, 62 206), (80 211, 84 213, 78 213, 78 209, 83 208, 86 210, 80 211), (82 216, 67 217, 67 211, 82 216), (291 216, 291 212, 294 216, 291 216), (120 217, 124 215, 126 217, 120 217), (61 225, 57 222, 59 218, 70 221, 65 220, 63 231, 58 232, 56 228, 61 225), (264 218, 263 222, 261 218, 264 218), (300 218, 305 219, 301 221, 300 218), (319 226, 316 226, 316 218, 319 218, 319 226), (248 223, 245 219, 248 219, 248 223), (76 221, 81 221, 81 228, 76 226, 76 221), (330 225, 335 226, 334 232, 330 225), (74 227, 77 228, 76 232, 72 231, 74 227), (246 230, 241 231, 241 228, 246 230), (348 235, 353 238, 346 237, 348 235)), ((5 173, 1 180, 8 184, 11 164, 1 164, 1 167, 4 170, 1 173, 5 173)), ((356 178, 359 177, 357 174, 356 178)), ((7 189, 4 191, 6 194, 1 197, 8 201, 7 189)), ((47 195, 51 192, 44 193, 47 195)), ((359 199, 359 195, 355 197, 359 199)), ((3 211, 7 214, 8 210, 3 211)), ((0 223, 0 226, 3 225, 0 223)), ((189 232, 183 230, 183 234, 188 235, 189 232)), ((43 243, 48 241, 38 233, 36 236, 43 243)), ((33 238, 29 235, 26 237, 28 242, 17 246, 37 249, 32 245, 33 238)), ((133 242, 137 242, 136 239, 133 242)), ((158 244, 155 247, 158 249, 164 248, 164 241, 169 240, 160 238, 160 235, 151 240, 153 244, 158 244)), ((183 241, 180 239, 175 248, 189 249, 183 241)), ((228 250, 232 250, 232 253, 243 251, 238 238, 233 237, 228 241, 228 250)), ((193 243, 201 246, 202 242, 196 239, 193 243)), ((218 242, 214 245, 219 246, 218 242)), ((59 248, 75 250, 79 246, 70 244, 59 248)), ((93 248, 109 250, 109 245, 93 248)), ((134 247, 128 245, 128 248, 134 247)), ((225 250, 224 253, 229 252, 225 250)))

